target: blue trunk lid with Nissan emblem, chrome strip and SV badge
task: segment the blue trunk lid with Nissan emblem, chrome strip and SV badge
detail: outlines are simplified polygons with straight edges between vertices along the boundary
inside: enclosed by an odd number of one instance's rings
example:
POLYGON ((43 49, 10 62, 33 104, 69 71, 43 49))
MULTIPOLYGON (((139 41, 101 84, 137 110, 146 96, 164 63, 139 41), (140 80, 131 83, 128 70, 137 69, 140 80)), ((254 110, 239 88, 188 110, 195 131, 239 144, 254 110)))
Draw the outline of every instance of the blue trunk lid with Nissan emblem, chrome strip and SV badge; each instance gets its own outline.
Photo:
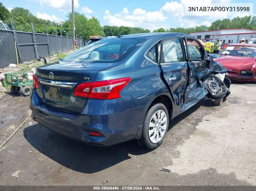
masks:
POLYGON ((70 63, 55 62, 37 68, 40 89, 36 89, 42 105, 70 113, 81 113, 86 97, 73 95, 78 84, 94 81, 101 70, 117 63, 70 63))

